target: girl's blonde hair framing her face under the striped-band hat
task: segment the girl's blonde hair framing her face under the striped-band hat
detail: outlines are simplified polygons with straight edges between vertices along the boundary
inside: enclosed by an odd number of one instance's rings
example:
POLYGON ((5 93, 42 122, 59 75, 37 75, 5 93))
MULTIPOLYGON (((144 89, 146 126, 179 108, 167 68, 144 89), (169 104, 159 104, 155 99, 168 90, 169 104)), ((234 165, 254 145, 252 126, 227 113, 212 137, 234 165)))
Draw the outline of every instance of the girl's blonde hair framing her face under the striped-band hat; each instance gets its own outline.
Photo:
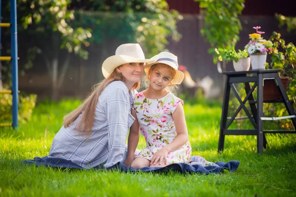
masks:
MULTIPOLYGON (((148 70, 148 75, 146 75, 145 79, 143 80, 143 84, 145 85, 146 88, 149 87, 149 77, 151 75, 151 72, 152 70, 154 70, 155 68, 157 67, 165 67, 167 69, 169 69, 169 71, 171 72, 172 74, 172 80, 175 78, 175 76, 177 75, 177 71, 172 67, 172 66, 168 66, 166 64, 162 64, 162 63, 158 63, 158 64, 155 64, 155 65, 152 65, 149 67, 149 70, 148 70)), ((178 89, 178 86, 176 84, 169 84, 168 87, 165 88, 167 91, 170 91, 172 93, 176 92, 177 89, 178 89)))

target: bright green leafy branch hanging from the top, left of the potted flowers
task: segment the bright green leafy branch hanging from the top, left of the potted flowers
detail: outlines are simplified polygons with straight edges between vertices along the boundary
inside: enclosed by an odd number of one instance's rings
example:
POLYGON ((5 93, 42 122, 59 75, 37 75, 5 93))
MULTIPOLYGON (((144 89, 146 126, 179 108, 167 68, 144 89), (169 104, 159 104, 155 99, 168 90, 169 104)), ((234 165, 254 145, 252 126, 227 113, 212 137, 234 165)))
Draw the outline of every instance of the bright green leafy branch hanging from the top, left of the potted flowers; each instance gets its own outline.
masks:
MULTIPOLYGON (((239 40, 239 31, 242 29, 238 15, 244 9, 245 0, 195 0, 200 4, 204 16, 204 27, 201 34, 214 48, 232 48, 239 40)), ((213 53, 214 50, 209 50, 213 53)), ((217 55, 214 54, 214 61, 217 55)))

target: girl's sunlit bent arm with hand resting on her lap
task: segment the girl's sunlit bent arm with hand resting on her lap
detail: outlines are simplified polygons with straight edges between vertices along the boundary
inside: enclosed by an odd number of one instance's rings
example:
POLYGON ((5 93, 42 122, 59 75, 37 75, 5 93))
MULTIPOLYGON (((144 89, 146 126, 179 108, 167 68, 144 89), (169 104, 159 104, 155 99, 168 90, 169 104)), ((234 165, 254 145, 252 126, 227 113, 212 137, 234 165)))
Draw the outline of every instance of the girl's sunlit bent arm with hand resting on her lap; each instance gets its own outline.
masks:
POLYGON ((157 161, 159 161, 159 164, 161 164, 163 159, 165 160, 165 164, 167 164, 167 154, 181 148, 188 141, 185 113, 181 102, 178 103, 172 116, 175 122, 177 137, 171 143, 164 146, 157 153, 155 153, 151 159, 150 164, 156 164, 157 161))

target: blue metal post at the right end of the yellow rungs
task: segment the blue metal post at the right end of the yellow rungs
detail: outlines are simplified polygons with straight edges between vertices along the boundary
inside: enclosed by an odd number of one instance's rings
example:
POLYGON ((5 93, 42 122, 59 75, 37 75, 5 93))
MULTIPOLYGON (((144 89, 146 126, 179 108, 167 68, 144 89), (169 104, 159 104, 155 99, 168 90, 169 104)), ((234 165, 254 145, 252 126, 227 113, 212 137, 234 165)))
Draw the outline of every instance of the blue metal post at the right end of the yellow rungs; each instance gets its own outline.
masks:
POLYGON ((10 0, 10 24, 11 24, 11 72, 12 72, 12 127, 18 127, 18 64, 17 64, 17 24, 16 24, 16 0, 10 0))

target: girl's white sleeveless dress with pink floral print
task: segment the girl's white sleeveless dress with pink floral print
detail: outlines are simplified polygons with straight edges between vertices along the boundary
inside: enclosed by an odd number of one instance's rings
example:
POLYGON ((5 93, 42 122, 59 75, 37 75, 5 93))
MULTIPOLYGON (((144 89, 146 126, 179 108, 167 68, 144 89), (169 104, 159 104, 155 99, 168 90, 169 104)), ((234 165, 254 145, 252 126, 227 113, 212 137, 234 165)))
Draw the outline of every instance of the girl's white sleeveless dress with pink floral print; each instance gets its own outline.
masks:
MULTIPOLYGON (((141 133, 145 137, 147 146, 137 157, 151 160, 153 154, 177 137, 172 114, 179 102, 184 104, 183 100, 172 93, 168 93, 161 99, 148 99, 143 92, 136 94, 133 108, 137 113, 141 133)), ((187 141, 178 150, 168 153, 167 162, 188 163, 188 154, 186 154, 188 149, 190 149, 190 143, 187 141)))

